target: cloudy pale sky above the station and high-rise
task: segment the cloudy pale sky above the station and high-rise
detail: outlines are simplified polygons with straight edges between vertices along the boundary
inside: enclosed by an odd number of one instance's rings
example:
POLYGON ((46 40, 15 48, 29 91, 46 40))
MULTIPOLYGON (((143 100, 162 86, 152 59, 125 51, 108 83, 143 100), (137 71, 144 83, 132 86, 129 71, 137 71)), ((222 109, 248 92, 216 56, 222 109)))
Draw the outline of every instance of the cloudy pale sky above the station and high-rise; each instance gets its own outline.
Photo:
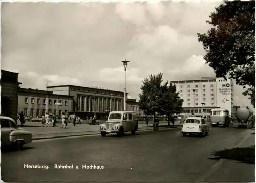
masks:
MULTIPOLYGON (((197 33, 221 2, 2 3, 1 69, 22 87, 71 84, 124 90, 139 99, 142 80, 215 76, 197 33)), ((250 106, 234 86, 234 105, 250 106)))

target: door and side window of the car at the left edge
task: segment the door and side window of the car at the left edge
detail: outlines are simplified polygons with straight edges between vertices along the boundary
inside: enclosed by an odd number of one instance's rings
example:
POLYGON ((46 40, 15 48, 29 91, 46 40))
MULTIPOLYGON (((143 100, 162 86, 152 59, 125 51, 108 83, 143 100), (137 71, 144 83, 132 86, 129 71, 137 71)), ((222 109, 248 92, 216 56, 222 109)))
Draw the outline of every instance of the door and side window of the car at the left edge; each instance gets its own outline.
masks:
POLYGON ((8 119, 0 119, 1 125, 1 143, 3 145, 10 145, 10 133, 13 129, 10 126, 10 121, 8 119))

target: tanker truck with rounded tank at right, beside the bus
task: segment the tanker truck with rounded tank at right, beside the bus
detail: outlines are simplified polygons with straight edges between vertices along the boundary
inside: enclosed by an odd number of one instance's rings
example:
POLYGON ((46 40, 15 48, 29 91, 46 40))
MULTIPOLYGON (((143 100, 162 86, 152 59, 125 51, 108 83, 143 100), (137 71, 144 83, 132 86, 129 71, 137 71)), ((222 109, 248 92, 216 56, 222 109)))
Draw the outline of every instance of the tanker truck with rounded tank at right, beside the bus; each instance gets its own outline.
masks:
POLYGON ((236 113, 234 113, 234 128, 252 128, 253 123, 253 112, 252 110, 243 107, 238 108, 236 113))

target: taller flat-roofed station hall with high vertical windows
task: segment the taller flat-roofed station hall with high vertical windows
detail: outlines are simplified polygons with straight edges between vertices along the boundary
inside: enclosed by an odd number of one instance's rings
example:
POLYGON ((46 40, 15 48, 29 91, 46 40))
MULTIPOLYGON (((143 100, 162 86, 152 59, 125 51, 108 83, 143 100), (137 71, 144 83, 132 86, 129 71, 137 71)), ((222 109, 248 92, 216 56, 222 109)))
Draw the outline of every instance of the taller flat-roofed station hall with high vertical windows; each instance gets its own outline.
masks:
MULTIPOLYGON (((102 118, 109 111, 123 110, 124 92, 74 85, 47 86, 53 94, 74 97, 72 113, 81 118, 102 118)), ((127 95, 126 95, 127 96, 127 95)), ((127 97, 126 97, 127 99, 127 97)))

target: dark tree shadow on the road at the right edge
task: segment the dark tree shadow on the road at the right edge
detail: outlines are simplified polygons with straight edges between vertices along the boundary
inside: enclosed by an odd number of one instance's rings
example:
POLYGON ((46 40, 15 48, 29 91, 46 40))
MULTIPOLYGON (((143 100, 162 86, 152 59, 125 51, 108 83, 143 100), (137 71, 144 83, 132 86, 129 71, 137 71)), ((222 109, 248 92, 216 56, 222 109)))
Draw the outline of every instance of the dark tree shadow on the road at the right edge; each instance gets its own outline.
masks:
POLYGON ((225 149, 221 151, 216 151, 211 155, 216 157, 208 158, 208 159, 211 159, 211 160, 229 159, 229 160, 234 160, 241 163, 255 164, 255 146, 225 149))

